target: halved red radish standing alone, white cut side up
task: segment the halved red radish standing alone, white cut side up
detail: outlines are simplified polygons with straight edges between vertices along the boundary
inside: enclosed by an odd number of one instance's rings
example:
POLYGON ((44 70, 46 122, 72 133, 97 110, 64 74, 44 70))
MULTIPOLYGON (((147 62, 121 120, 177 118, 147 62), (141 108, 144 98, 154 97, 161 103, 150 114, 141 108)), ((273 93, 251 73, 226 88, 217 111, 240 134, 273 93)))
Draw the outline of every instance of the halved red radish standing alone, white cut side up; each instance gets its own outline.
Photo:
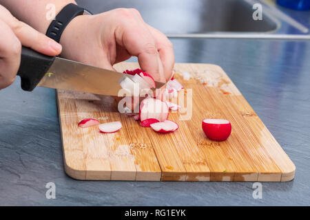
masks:
POLYGON ((203 131, 210 140, 224 141, 227 140, 231 133, 231 124, 229 120, 225 119, 204 119, 203 131))

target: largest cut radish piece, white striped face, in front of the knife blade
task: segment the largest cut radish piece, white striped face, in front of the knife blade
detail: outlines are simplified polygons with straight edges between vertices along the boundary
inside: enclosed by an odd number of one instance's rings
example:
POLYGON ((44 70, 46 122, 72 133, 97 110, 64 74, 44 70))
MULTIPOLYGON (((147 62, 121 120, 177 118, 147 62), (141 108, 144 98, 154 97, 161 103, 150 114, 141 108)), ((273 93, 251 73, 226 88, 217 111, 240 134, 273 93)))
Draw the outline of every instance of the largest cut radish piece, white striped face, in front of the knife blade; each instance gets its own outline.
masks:
POLYGON ((162 102, 156 98, 145 98, 140 105, 141 121, 149 118, 155 118, 160 122, 167 120, 169 108, 166 102, 162 102))

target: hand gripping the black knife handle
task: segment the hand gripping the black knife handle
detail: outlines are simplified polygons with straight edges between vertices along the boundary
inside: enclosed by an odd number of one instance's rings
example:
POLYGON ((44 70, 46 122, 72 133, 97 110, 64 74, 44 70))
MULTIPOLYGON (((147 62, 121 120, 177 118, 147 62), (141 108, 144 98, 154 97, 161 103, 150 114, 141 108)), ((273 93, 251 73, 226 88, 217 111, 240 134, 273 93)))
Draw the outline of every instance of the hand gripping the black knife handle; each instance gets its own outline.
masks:
POLYGON ((0 5, 0 89, 14 82, 21 61, 21 45, 49 56, 61 53, 61 45, 18 21, 0 5))

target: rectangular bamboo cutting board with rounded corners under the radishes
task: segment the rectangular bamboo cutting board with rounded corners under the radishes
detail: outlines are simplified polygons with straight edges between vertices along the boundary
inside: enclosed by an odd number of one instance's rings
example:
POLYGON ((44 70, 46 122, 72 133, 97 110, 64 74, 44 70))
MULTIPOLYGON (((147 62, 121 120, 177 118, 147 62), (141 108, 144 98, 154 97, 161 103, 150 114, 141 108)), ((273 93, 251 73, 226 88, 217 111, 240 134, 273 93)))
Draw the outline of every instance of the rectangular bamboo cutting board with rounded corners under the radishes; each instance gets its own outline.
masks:
MULTIPOLYGON (((114 67, 123 72, 138 64, 114 67)), ((176 79, 185 87, 179 94, 184 97, 184 107, 169 113, 169 120, 180 126, 174 133, 160 134, 140 126, 134 118, 118 113, 112 97, 56 91, 65 172, 74 179, 96 180, 293 179, 293 162, 223 69, 198 63, 177 63, 174 69, 176 79), (183 80, 183 72, 192 78, 183 80), (123 128, 108 134, 100 133, 96 126, 81 129, 77 124, 84 118, 102 123, 120 120, 123 128), (228 140, 209 140, 201 128, 204 118, 229 120, 232 131, 228 140)))

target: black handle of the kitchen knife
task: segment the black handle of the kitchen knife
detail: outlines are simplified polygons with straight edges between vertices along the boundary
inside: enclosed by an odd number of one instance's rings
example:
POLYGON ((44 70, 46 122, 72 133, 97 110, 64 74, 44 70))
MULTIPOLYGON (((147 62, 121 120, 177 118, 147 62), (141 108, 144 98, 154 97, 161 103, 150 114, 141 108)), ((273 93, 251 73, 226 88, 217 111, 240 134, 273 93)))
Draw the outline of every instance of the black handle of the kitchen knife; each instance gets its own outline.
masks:
POLYGON ((54 62, 54 56, 46 56, 28 47, 21 49, 21 65, 18 76, 21 76, 21 89, 32 91, 54 62))

